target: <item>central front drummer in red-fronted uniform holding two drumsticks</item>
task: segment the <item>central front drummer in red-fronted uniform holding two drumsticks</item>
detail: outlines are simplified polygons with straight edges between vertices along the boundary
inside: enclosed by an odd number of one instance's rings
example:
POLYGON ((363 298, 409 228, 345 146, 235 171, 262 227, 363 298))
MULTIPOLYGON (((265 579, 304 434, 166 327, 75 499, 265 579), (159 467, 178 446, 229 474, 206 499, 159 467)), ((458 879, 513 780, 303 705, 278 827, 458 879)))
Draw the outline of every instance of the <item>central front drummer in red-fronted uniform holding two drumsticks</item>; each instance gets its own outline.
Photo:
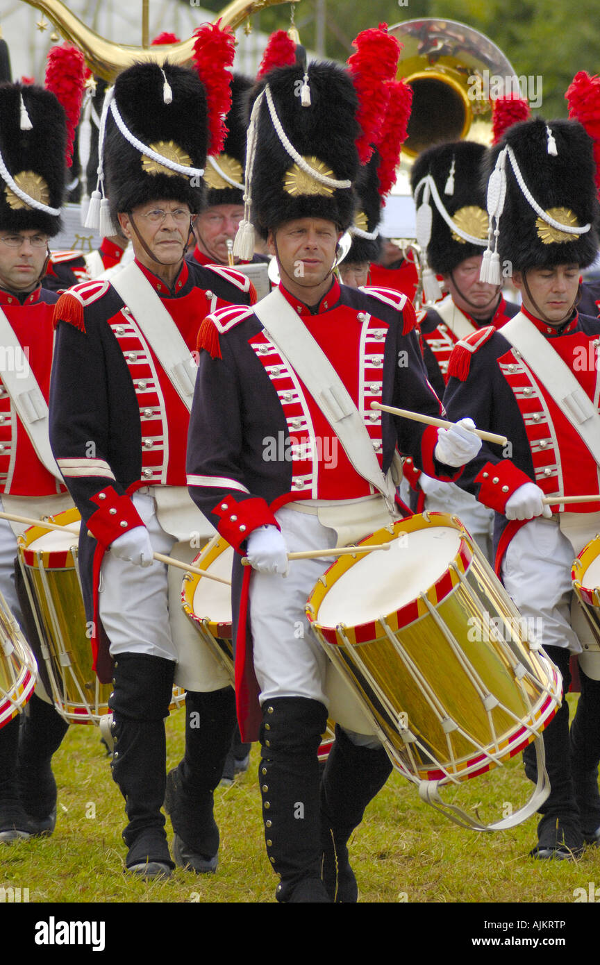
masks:
POLYGON ((188 483, 198 506, 238 553, 238 717, 242 737, 260 739, 267 855, 281 878, 277 899, 356 901, 346 842, 391 764, 373 738, 338 728, 319 813, 325 656, 304 607, 331 559, 288 566, 286 554, 333 547, 339 533, 353 541, 395 517, 389 470, 396 442, 431 475, 453 479, 479 441, 465 426, 438 433, 387 415, 383 421, 369 417, 371 400, 401 402, 432 416, 439 415, 440 403, 426 381, 406 296, 347 289, 332 274, 338 240, 352 223, 359 169, 358 104, 348 72, 298 63, 261 78, 254 98, 257 141, 246 193, 282 283, 259 302, 259 311, 216 312, 201 327, 188 483), (294 96, 302 87, 302 98, 294 96), (272 96, 277 129, 264 92, 272 96), (308 155, 311 164, 300 166, 298 155, 308 155), (267 307, 269 302, 275 306, 267 307), (278 341, 285 340, 281 352, 271 341, 275 328, 278 341), (296 337, 299 344, 292 346, 296 337), (333 366, 327 376, 321 359, 333 366), (317 362, 321 373, 315 377, 317 362), (351 414, 356 405, 364 419, 351 414), (245 570, 242 588, 244 554, 252 571, 245 570), (247 630, 254 654, 246 650, 247 630))

